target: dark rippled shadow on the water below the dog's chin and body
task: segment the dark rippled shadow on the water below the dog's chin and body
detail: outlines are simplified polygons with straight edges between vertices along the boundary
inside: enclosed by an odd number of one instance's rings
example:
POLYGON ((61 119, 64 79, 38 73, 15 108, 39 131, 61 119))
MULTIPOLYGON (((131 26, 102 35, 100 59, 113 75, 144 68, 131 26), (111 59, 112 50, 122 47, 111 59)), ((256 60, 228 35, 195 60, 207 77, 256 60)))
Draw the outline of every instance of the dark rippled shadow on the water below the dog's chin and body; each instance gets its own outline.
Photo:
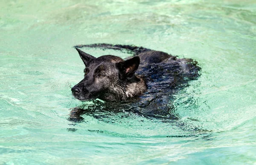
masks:
POLYGON ((121 115, 121 117, 128 117, 127 115, 129 113, 133 113, 148 119, 159 118, 176 120, 179 118, 179 116, 175 114, 175 109, 171 107, 172 104, 170 102, 162 104, 162 99, 158 102, 156 102, 156 100, 147 101, 146 103, 140 101, 140 98, 133 101, 121 102, 102 102, 96 100, 93 101, 93 104, 83 104, 72 108, 68 120, 74 123, 83 122, 83 115, 89 115, 98 120, 102 120, 117 113, 122 113, 123 115, 121 115), (128 114, 125 112, 128 112, 128 114))

